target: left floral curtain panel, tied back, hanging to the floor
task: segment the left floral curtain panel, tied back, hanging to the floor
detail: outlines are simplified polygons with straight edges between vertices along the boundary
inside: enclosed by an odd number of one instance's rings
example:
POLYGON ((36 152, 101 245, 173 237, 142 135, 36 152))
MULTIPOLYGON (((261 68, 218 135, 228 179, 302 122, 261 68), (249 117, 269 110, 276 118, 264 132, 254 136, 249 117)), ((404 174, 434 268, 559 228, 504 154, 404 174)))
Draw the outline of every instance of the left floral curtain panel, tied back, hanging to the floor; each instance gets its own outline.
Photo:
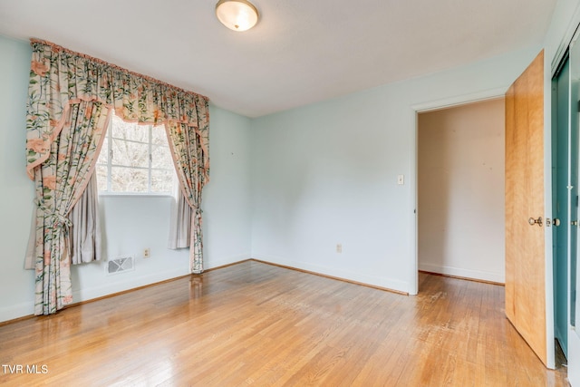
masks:
MULTIPOLYGON (((89 182, 108 111, 101 102, 71 104, 48 158, 34 169, 34 314, 52 314, 73 302, 68 214, 89 182)), ((34 143, 29 145, 34 150, 34 143)))

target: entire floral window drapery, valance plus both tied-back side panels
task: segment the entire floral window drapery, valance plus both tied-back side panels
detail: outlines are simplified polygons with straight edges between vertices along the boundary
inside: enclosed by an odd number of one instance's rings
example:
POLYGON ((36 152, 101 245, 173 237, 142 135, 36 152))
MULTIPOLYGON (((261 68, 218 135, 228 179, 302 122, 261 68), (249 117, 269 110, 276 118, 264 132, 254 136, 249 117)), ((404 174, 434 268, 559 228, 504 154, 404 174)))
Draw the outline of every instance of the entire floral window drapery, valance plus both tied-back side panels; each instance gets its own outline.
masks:
POLYGON ((111 110, 125 121, 174 128, 167 132, 196 214, 192 237, 198 248, 192 247, 190 256, 197 262, 192 267, 199 267, 199 205, 209 172, 208 99, 56 44, 34 39, 31 46, 26 171, 36 182, 38 205, 35 314, 54 313, 72 302, 66 217, 92 174, 111 110))

